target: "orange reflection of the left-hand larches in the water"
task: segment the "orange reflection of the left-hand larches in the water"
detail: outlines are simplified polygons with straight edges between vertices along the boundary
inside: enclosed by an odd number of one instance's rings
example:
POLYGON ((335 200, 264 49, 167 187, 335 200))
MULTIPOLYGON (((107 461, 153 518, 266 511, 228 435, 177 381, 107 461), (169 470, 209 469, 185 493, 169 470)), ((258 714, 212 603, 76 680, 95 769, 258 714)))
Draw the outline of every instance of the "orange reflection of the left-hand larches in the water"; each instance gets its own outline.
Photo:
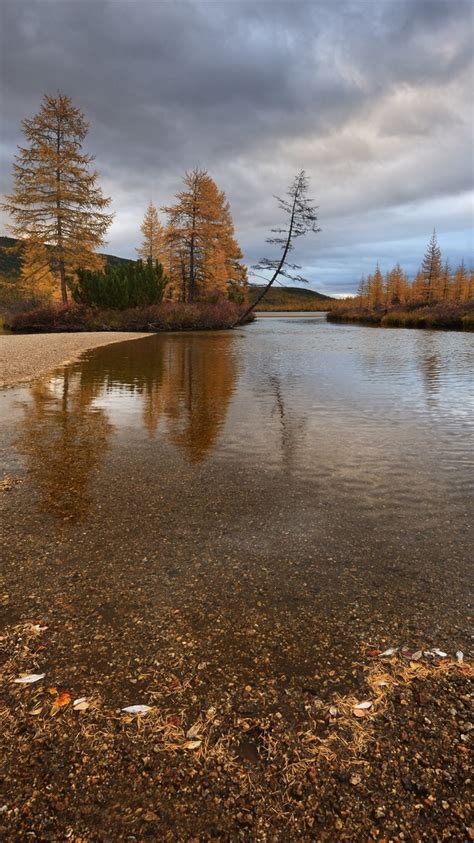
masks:
POLYGON ((105 346, 34 384, 17 447, 26 457, 40 508, 74 521, 90 511, 93 474, 114 430, 109 395, 135 397, 148 433, 161 435, 197 464, 217 440, 236 378, 228 335, 189 334, 105 346))

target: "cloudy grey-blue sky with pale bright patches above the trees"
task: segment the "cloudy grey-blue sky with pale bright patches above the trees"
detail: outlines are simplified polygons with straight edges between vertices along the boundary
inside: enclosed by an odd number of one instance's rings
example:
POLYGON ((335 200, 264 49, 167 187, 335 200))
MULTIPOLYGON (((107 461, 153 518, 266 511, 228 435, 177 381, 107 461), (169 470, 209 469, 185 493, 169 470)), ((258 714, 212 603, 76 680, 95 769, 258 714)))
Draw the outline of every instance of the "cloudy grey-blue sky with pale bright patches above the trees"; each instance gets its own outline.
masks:
POLYGON ((0 30, 0 192, 21 120, 60 90, 90 122, 112 254, 135 256, 149 201, 198 166, 250 265, 306 171, 322 230, 294 260, 321 292, 376 261, 413 275, 434 227, 474 263, 470 0, 0 0, 0 30))

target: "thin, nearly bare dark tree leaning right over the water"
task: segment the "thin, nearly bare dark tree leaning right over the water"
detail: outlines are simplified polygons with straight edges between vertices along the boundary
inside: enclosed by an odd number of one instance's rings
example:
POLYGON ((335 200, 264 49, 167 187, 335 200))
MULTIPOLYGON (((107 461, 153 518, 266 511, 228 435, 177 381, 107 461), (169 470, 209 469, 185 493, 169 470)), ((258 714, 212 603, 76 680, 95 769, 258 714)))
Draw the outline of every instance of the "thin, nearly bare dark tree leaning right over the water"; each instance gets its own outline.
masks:
POLYGON ((260 295, 257 296, 253 304, 251 304, 241 316, 238 318, 235 325, 240 325, 247 318, 249 313, 257 306, 263 299, 270 287, 278 282, 278 278, 288 278, 290 281, 297 281, 300 283, 307 283, 307 279, 300 275, 297 270, 301 269, 296 263, 290 263, 288 257, 290 252, 294 249, 294 241, 298 237, 303 237, 309 231, 317 234, 321 229, 318 227, 318 208, 312 204, 312 200, 308 198, 309 180, 304 170, 301 170, 293 180, 287 191, 287 199, 280 196, 275 196, 279 208, 287 216, 286 225, 281 228, 272 228, 274 237, 268 237, 266 242, 278 246, 281 255, 276 258, 262 258, 257 264, 252 267, 252 275, 261 277, 261 272, 271 272, 269 280, 267 276, 267 284, 264 286, 260 295))

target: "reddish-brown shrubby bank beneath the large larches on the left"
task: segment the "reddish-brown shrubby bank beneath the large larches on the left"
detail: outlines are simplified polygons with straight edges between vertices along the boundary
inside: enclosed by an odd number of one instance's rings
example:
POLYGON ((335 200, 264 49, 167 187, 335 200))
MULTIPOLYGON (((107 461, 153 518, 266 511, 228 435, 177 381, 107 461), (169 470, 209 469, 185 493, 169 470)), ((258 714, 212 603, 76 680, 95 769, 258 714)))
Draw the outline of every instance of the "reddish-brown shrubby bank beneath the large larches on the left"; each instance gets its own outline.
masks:
MULTIPOLYGON (((5 319, 18 333, 74 331, 199 331, 230 328, 242 312, 240 305, 222 300, 217 303, 181 304, 163 302, 128 310, 101 309, 73 304, 51 305, 5 319)), ((246 321, 254 319, 250 314, 246 321)))

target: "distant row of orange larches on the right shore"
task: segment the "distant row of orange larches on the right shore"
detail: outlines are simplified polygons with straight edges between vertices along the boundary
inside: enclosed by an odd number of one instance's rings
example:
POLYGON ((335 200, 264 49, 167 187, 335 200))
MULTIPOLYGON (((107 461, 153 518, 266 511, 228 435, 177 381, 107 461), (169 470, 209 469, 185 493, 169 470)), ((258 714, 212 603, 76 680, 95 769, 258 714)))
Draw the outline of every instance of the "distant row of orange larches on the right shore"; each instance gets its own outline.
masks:
POLYGON ((442 260, 436 231, 433 231, 422 265, 410 281, 399 263, 384 276, 377 264, 373 274, 362 278, 356 298, 342 300, 337 306, 358 305, 369 310, 400 305, 431 306, 440 302, 468 302, 474 298, 473 271, 462 260, 451 269, 442 260))

